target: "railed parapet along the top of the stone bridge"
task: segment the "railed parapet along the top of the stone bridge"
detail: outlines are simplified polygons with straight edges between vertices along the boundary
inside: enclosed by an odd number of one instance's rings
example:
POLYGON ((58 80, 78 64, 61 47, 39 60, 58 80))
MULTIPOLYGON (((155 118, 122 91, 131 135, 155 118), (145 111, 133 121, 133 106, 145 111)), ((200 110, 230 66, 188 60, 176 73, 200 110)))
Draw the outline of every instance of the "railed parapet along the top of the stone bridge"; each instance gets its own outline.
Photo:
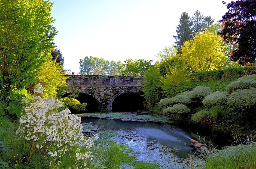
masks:
POLYGON ((100 76, 100 75, 68 75, 69 86, 137 86, 145 81, 143 76, 100 76))

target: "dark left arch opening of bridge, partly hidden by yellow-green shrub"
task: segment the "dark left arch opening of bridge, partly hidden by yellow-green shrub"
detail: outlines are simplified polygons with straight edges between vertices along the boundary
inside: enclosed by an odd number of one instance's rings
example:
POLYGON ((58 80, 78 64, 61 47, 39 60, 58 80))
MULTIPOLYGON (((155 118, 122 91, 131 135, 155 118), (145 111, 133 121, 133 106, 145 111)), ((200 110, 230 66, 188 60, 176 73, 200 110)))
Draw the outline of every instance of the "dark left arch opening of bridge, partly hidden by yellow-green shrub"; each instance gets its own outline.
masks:
POLYGON ((89 95, 86 93, 80 93, 76 99, 80 101, 80 103, 87 103, 86 111, 85 111, 86 113, 93 113, 93 112, 100 111, 99 101, 92 95, 89 95))

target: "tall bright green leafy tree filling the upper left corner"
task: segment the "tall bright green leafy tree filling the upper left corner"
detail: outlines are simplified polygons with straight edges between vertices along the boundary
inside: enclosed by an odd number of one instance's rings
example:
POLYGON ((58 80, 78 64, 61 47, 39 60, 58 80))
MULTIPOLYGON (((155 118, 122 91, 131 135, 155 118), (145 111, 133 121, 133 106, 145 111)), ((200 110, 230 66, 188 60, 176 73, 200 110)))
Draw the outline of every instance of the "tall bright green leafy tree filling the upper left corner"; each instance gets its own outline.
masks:
MULTIPOLYGON (((1 0, 0 100, 8 103, 10 90, 27 87, 53 48, 52 3, 44 0, 1 0)), ((1 108, 0 108, 1 109, 1 108)), ((3 112, 0 110, 1 112, 3 112)))

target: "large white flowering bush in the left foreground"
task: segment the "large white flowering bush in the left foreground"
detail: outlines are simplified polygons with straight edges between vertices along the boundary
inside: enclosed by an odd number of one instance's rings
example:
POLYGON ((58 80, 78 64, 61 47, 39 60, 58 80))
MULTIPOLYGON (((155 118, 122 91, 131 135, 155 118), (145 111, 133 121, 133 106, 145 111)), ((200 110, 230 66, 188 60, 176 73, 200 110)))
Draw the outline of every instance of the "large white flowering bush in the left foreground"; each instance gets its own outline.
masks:
MULTIPOLYGON (((34 92, 41 95, 42 86, 36 85, 34 92)), ((29 154, 44 152, 49 168, 87 168, 92 158, 89 148, 98 136, 84 137, 80 117, 68 109, 59 111, 62 103, 53 97, 43 99, 39 95, 23 99, 25 107, 16 131, 32 142, 29 154), (66 164, 63 157, 71 158, 73 163, 66 164)))

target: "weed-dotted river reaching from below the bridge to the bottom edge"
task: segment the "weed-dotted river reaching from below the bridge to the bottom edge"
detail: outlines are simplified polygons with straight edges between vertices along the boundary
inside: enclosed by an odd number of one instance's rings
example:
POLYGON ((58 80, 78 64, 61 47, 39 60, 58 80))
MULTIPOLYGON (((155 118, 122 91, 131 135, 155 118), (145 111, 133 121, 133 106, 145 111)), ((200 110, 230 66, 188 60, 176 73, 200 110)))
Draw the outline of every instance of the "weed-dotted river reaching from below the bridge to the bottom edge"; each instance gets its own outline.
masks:
POLYGON ((140 161, 159 164, 163 169, 202 167, 199 160, 193 160, 191 132, 176 125, 97 117, 82 117, 82 125, 84 132, 117 132, 111 139, 129 145, 140 161))

